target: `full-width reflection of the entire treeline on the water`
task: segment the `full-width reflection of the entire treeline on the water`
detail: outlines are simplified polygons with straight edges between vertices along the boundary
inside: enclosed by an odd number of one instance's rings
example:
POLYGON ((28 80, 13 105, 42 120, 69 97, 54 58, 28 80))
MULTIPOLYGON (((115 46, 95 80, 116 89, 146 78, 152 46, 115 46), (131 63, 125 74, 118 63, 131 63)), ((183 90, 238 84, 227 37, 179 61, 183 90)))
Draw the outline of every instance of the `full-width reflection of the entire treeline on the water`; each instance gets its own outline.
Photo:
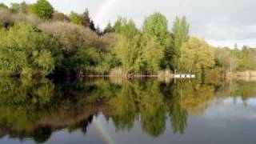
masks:
POLYGON ((165 132, 169 116, 174 133, 184 134, 189 114, 203 114, 214 98, 226 95, 240 95, 246 101, 256 95, 255 85, 104 79, 54 84, 46 79, 4 78, 0 81, 0 135, 44 142, 53 131, 64 128, 86 134, 98 112, 112 119, 117 131, 131 130, 141 122, 142 130, 153 137, 165 132))

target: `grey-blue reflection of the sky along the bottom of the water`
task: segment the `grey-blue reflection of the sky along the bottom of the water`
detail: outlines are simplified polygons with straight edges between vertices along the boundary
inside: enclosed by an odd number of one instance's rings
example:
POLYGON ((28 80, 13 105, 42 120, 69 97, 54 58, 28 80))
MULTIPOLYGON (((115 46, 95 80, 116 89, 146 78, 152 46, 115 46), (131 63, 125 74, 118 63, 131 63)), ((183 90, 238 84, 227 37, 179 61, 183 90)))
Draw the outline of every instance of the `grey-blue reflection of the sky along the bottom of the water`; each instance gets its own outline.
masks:
MULTIPOLYGON (((142 143, 192 143, 192 144, 254 144, 256 142, 256 98, 245 102, 241 98, 218 99, 207 108, 203 115, 190 115, 185 134, 174 134, 170 118, 166 118, 166 131, 159 137, 150 137, 142 130, 142 122, 134 122, 130 131, 117 131, 114 122, 106 120, 103 114, 94 116, 94 121, 88 127, 87 133, 81 130, 70 133, 68 130, 54 132, 48 144, 62 143, 95 143, 95 144, 142 144, 142 143)), ((0 143, 20 143, 8 137, 0 143)), ((24 140, 22 143, 34 143, 24 140)))

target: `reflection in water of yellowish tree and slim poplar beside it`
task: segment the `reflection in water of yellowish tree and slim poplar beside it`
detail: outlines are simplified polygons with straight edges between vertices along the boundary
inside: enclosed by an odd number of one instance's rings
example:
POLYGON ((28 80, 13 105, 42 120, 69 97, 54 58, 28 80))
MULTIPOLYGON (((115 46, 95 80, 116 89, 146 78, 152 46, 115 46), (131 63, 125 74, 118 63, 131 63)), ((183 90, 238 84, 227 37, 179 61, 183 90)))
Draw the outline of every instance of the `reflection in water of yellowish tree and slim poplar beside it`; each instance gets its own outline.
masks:
POLYGON ((203 114, 214 100, 214 86, 199 82, 178 81, 162 84, 169 107, 170 121, 174 133, 184 134, 189 114, 203 114))

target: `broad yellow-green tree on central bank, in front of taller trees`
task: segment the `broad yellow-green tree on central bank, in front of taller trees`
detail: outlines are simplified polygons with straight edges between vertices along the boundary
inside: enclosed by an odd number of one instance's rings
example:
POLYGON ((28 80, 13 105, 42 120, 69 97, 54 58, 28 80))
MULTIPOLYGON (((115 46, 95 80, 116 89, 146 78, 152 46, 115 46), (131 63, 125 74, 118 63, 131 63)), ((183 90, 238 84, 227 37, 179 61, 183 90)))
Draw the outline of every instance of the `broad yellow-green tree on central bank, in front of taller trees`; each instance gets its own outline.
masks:
POLYGON ((114 54, 122 63, 122 69, 155 74, 160 70, 163 58, 161 46, 150 35, 137 34, 133 39, 122 35, 114 46, 114 54))

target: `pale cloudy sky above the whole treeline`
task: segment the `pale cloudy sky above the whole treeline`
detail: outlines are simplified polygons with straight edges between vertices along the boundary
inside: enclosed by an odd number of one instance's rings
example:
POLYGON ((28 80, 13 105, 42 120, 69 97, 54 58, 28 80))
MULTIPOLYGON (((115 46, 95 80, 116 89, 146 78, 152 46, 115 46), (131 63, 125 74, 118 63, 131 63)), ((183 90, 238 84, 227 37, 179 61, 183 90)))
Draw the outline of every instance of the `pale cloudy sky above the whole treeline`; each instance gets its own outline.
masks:
MULTIPOLYGON (((0 0, 8 5, 23 0, 0 0)), ((36 2, 36 0, 25 0, 36 2)), ((256 47, 255 0, 49 0, 55 10, 69 14, 82 13, 86 8, 96 25, 104 28, 118 15, 134 19, 142 27, 147 15, 166 15, 169 29, 176 16, 186 16, 190 35, 205 38, 214 46, 256 47)))

